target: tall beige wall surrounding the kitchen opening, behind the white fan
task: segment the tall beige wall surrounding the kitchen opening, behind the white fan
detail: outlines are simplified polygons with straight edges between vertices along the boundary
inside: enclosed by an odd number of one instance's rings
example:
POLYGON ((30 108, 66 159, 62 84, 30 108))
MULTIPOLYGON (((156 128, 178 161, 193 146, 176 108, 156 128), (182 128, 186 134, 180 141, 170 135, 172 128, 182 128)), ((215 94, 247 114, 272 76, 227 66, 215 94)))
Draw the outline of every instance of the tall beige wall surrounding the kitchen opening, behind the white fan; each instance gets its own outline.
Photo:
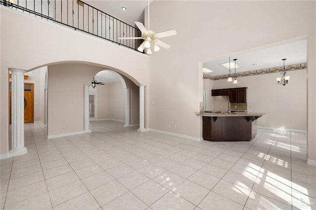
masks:
POLYGON ((308 158, 316 160, 315 10, 315 1, 153 1, 151 27, 177 35, 150 57, 150 127, 201 137, 203 62, 307 38, 308 158))

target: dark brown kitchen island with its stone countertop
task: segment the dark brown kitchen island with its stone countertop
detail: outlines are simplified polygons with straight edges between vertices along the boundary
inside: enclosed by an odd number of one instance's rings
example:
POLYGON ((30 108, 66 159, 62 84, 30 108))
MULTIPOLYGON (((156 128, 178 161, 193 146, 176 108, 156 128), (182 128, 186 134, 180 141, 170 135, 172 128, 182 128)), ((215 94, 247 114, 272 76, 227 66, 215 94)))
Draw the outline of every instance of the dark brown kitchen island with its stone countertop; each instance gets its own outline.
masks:
POLYGON ((250 141, 257 135, 256 112, 201 112, 203 139, 210 141, 250 141))

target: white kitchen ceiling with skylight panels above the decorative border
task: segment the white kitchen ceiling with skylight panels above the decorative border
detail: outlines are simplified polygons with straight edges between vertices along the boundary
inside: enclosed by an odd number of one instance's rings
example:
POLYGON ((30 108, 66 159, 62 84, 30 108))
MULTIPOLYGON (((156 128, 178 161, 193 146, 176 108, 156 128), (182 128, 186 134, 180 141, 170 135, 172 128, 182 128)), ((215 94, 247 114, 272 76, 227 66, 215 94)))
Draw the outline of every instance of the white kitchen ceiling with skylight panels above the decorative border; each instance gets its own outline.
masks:
MULTIPOLYGON (((235 58, 237 58, 236 63, 241 66, 240 68, 236 69, 236 73, 250 70, 281 67, 283 66, 283 58, 286 58, 285 66, 306 63, 307 40, 301 40, 262 50, 236 54, 234 56, 231 56, 231 62, 235 58)), ((228 69, 221 65, 228 62, 229 57, 227 56, 203 63, 203 67, 214 71, 205 74, 209 74, 212 76, 228 74, 228 69)), ((231 70, 232 73, 235 72, 235 69, 231 68, 231 70)))

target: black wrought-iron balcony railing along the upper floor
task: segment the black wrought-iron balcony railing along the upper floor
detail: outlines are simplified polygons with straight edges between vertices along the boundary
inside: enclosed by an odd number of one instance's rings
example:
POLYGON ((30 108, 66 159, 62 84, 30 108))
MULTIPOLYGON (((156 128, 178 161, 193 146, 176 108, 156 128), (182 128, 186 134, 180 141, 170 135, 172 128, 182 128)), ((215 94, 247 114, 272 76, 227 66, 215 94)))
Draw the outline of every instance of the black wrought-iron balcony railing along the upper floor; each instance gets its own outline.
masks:
POLYGON ((1 5, 104 38, 137 51, 140 30, 81 0, 0 0, 1 5))

